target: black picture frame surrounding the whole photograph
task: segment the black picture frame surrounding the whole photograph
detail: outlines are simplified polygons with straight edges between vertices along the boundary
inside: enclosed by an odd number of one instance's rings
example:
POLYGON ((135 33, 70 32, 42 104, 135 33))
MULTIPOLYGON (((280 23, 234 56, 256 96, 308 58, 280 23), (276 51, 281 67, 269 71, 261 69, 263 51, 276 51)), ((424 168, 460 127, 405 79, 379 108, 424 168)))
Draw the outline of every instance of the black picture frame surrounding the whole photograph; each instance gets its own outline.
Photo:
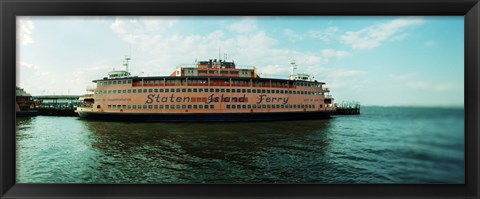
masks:
POLYGON ((479 198, 479 0, 0 0, 0 197, 479 198), (459 15, 465 20, 465 184, 16 184, 16 16, 459 15))

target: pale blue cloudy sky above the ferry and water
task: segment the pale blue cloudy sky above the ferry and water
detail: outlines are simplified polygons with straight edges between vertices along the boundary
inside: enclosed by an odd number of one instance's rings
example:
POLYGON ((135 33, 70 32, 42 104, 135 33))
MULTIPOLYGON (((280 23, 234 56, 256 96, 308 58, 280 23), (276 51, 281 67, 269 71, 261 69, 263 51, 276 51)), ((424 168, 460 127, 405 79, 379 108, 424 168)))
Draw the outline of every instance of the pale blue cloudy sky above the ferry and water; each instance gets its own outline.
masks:
POLYGON ((226 57, 269 78, 295 60, 337 103, 464 106, 463 16, 21 16, 16 43, 34 96, 85 94, 125 55, 139 76, 226 57))

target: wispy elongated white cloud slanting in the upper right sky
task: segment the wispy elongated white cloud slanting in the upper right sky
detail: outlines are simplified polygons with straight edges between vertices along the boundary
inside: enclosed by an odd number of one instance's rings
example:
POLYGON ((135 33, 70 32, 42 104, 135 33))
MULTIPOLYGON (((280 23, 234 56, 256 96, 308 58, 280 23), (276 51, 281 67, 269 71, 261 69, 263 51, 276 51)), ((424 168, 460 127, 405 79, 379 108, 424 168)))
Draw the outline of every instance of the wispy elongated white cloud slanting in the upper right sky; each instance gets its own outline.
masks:
POLYGON ((420 17, 402 17, 359 31, 346 32, 340 36, 340 39, 351 45, 353 49, 372 49, 382 45, 385 41, 403 40, 408 35, 404 32, 406 28, 421 23, 423 23, 423 18, 420 17))

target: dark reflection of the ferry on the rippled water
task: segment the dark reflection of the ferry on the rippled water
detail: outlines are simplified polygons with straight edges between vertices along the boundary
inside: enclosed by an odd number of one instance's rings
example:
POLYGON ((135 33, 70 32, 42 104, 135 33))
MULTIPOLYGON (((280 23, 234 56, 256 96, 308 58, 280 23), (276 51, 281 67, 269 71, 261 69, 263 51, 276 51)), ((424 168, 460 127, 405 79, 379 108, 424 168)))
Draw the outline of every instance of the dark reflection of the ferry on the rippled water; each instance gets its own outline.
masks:
POLYGON ((132 176, 139 182, 304 181, 308 172, 291 174, 318 164, 328 147, 329 120, 82 123, 101 154, 97 169, 108 170, 99 178, 115 182, 130 182, 132 176))

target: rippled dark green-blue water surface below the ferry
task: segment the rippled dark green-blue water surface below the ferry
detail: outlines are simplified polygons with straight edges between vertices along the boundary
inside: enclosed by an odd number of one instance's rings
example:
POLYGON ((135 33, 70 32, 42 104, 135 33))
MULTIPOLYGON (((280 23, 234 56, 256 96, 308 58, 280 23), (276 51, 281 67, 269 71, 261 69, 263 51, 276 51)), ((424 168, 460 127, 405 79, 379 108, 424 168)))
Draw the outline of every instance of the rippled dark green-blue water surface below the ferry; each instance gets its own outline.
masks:
POLYGON ((17 183, 463 183, 464 109, 328 120, 17 118, 17 183))

